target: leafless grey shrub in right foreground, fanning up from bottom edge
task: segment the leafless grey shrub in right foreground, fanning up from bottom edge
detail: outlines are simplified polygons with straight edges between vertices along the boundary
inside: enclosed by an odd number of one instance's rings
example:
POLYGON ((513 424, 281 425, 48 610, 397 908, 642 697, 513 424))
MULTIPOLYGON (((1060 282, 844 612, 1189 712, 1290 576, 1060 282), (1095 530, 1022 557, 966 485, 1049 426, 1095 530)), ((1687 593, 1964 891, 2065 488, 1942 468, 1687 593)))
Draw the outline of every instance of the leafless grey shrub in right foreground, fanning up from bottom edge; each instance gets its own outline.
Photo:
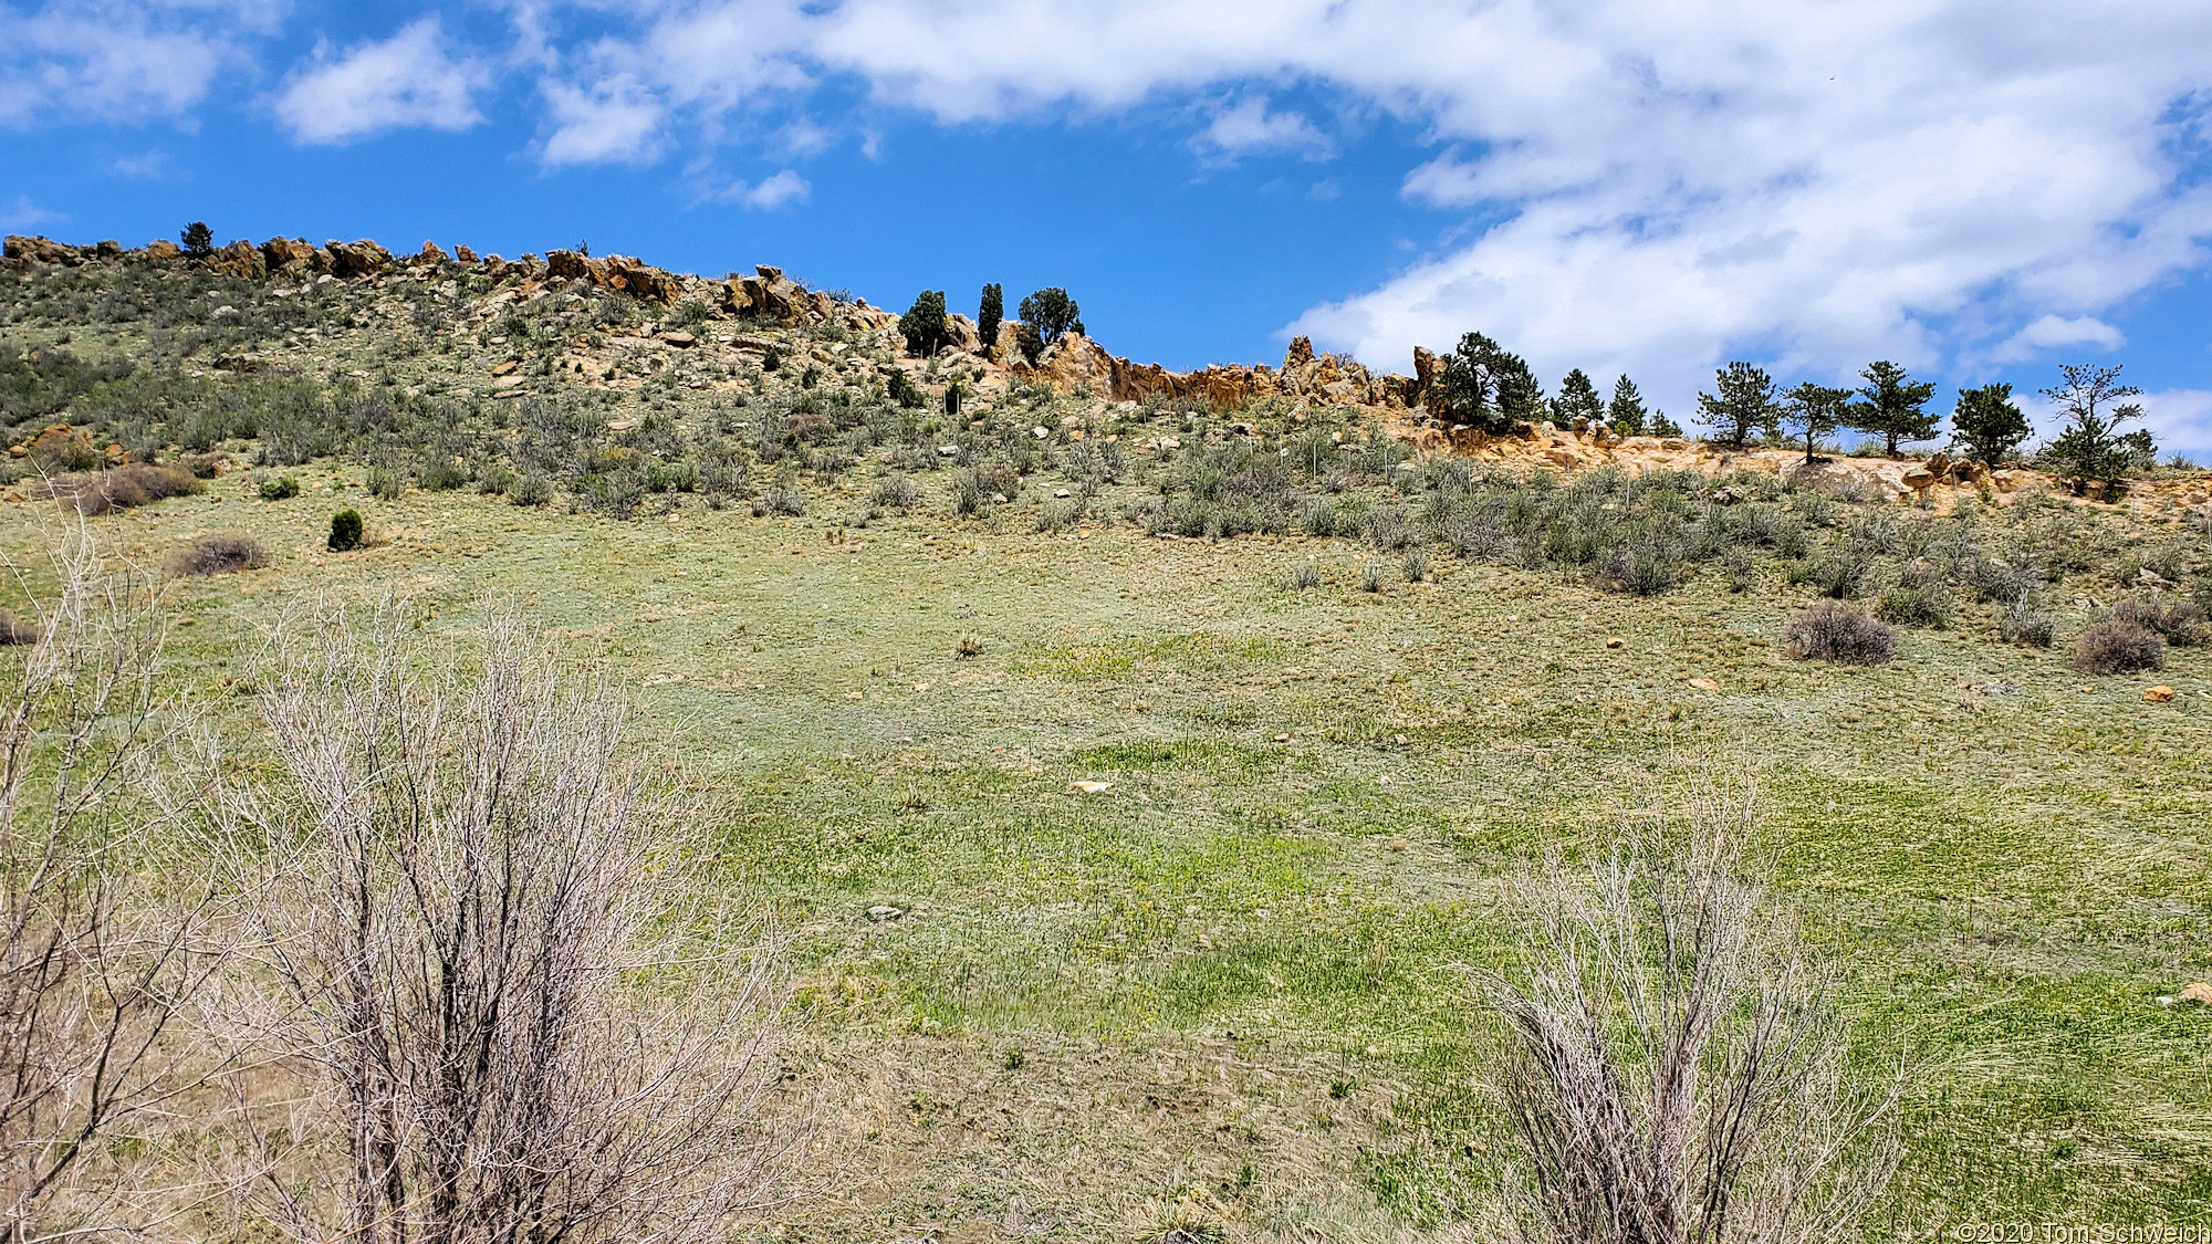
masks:
POLYGON ((1754 799, 1628 823, 1579 883, 1553 854, 1526 970, 1478 976, 1528 1237, 1847 1240, 1896 1173, 1902 1076, 1854 1080, 1834 974, 1745 870, 1754 799))

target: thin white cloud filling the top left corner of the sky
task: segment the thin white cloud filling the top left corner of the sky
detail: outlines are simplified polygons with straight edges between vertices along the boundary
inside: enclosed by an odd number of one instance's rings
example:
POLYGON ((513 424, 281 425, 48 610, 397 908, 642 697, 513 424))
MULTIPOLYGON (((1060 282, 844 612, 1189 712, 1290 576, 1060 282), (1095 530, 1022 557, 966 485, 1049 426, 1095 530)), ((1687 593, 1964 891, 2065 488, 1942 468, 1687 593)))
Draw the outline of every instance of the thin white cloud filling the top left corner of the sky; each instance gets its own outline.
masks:
POLYGON ((0 9, 0 126, 184 115, 279 15, 276 2, 11 4, 0 9))

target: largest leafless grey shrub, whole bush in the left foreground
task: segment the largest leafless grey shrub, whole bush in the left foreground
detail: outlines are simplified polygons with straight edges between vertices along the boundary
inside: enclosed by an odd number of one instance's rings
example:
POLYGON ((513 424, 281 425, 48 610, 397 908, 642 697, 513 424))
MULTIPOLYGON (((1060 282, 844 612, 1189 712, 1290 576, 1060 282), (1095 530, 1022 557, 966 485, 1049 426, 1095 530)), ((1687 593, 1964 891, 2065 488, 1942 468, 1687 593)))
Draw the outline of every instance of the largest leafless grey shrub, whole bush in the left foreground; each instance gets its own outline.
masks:
POLYGON ((478 673, 422 673, 403 613, 323 615, 265 695, 283 779, 217 797, 314 1085, 241 1189, 299 1240, 726 1240, 794 1138, 772 947, 697 905, 699 819, 602 684, 498 613, 478 673))

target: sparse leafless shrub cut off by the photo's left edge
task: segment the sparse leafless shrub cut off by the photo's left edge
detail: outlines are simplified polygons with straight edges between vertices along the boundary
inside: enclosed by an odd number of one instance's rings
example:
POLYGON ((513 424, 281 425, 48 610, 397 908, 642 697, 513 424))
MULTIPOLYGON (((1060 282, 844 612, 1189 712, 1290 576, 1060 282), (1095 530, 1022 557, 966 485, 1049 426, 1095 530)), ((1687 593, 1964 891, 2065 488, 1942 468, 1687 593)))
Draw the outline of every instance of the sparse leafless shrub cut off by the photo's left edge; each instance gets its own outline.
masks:
POLYGON ((77 527, 55 553, 20 677, 0 697, 0 1240, 102 1235, 144 1191, 117 1129, 208 1074, 179 1020, 221 954, 208 903, 161 901, 128 868, 161 744, 161 615, 77 527))

